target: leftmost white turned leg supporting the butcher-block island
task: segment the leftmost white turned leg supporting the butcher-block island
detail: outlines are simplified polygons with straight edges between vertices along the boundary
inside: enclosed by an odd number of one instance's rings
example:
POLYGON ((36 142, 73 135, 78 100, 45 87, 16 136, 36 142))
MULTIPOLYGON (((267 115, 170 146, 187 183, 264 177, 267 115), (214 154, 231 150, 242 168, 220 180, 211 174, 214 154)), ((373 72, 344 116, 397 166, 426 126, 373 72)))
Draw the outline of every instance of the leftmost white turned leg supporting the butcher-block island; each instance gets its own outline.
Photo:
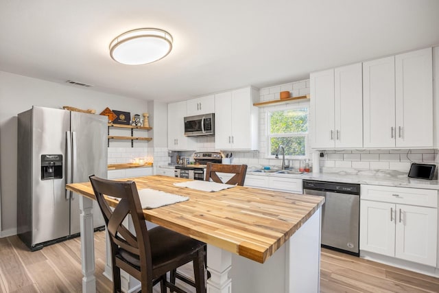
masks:
POLYGON ((93 237, 93 200, 80 198, 80 232, 82 258, 82 292, 95 293, 95 239, 93 237))

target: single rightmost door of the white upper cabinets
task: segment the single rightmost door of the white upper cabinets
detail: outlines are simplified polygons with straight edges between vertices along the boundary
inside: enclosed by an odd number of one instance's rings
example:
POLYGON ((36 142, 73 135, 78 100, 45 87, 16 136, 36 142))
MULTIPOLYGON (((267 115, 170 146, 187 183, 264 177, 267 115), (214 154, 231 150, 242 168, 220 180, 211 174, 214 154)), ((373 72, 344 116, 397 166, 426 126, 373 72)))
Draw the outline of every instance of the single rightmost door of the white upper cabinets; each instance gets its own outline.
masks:
POLYGON ((433 146, 431 48, 395 56, 396 146, 433 146))

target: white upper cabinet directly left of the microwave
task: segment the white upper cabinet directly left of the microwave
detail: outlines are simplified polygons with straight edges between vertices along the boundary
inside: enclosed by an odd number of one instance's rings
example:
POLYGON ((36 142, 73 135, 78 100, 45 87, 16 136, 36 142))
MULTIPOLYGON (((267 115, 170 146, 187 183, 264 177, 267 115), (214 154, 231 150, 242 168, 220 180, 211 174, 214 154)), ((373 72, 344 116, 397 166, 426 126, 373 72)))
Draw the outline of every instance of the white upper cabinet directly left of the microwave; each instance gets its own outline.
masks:
POLYGON ((186 101, 167 104, 167 147, 169 150, 191 150, 193 142, 185 137, 186 101))

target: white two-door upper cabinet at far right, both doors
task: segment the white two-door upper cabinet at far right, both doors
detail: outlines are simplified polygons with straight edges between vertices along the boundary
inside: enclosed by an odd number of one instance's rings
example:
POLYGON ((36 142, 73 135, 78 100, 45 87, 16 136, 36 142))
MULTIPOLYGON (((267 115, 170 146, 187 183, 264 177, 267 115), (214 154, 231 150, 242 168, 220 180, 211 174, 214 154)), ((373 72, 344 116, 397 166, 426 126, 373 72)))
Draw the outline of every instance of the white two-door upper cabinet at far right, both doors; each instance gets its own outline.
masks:
POLYGON ((363 64, 365 148, 433 146, 431 48, 363 64))

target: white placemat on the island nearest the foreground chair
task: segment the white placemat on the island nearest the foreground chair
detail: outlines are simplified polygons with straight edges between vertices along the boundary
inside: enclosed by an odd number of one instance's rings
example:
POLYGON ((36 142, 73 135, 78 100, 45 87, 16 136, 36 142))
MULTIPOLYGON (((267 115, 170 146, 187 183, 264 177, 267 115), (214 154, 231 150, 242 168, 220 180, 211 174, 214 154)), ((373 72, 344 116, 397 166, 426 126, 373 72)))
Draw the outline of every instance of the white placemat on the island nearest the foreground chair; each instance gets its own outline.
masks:
POLYGON ((175 204, 177 202, 185 202, 186 200, 189 200, 187 196, 168 194, 165 191, 149 188, 141 189, 138 192, 142 209, 156 209, 158 207, 164 207, 169 204, 175 204))

